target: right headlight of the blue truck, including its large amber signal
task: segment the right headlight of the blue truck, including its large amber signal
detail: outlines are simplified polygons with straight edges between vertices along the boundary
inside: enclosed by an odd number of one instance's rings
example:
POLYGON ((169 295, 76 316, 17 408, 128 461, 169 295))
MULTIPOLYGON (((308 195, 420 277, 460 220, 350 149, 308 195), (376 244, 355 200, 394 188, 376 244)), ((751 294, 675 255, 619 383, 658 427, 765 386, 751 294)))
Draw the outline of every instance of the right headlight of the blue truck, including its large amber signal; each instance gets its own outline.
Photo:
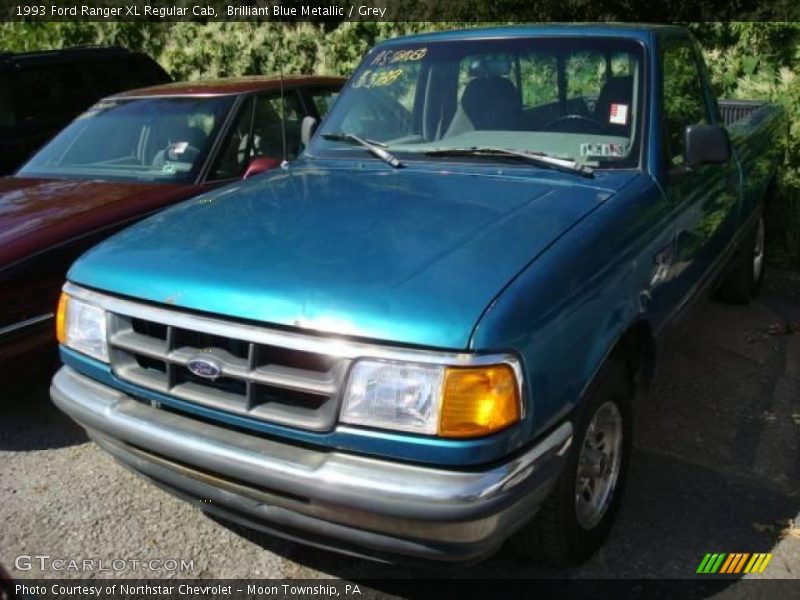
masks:
POLYGON ((466 438, 499 431, 521 417, 516 374, 507 364, 465 368, 359 360, 340 420, 466 438))

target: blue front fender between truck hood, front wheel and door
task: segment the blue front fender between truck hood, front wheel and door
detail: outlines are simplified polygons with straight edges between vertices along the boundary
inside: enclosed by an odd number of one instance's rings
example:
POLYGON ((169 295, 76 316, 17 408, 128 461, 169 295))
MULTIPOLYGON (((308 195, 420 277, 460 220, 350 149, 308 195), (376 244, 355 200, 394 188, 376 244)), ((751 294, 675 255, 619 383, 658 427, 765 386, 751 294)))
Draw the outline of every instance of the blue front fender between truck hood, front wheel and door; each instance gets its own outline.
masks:
POLYGON ((472 348, 522 357, 529 439, 576 407, 632 326, 660 318, 646 301, 661 243, 651 230, 668 212, 652 179, 638 178, 520 273, 478 322, 472 348))

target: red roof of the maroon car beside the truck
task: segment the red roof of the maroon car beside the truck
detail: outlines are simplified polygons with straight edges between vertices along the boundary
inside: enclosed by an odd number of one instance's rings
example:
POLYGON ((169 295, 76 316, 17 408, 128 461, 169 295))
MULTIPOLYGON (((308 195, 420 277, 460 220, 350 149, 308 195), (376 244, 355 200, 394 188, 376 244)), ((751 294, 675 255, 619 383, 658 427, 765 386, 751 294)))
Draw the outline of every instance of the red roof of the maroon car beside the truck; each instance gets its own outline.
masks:
MULTIPOLYGON (((343 77, 316 77, 309 75, 285 75, 284 86, 296 88, 306 85, 342 84, 343 77)), ((112 98, 143 98, 151 96, 228 96, 280 89, 279 75, 254 77, 229 77, 204 81, 183 81, 154 85, 114 94, 112 98)))

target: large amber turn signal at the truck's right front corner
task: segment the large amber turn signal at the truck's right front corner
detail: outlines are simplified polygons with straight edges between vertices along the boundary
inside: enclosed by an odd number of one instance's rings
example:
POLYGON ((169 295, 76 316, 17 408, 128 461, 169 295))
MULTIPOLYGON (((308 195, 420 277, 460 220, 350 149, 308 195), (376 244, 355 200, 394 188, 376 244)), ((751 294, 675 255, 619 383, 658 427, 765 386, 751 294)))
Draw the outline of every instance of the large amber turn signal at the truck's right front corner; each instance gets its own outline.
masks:
POLYGON ((448 368, 445 373, 439 435, 478 437, 519 422, 519 387, 508 365, 448 368))

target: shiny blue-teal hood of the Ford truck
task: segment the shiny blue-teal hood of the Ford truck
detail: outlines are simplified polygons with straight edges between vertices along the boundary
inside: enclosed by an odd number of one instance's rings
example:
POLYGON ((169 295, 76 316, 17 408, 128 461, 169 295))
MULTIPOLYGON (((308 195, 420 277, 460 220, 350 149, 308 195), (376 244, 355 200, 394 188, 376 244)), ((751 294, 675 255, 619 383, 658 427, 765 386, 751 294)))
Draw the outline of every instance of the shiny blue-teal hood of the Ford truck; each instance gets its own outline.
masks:
POLYGON ((69 273, 160 304, 340 335, 466 348, 530 261, 633 175, 292 167, 198 196, 69 273))

